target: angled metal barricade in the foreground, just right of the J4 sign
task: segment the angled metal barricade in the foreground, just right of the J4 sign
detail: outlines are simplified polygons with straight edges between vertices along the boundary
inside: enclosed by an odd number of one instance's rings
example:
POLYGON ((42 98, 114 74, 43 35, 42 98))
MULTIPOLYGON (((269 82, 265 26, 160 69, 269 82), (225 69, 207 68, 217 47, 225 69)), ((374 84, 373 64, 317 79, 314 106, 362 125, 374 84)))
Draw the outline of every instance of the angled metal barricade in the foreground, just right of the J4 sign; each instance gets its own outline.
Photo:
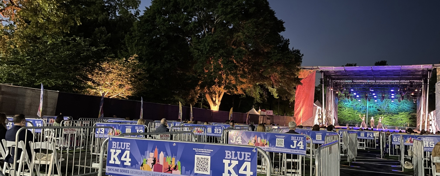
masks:
MULTIPOLYGON (((331 135, 333 136, 333 135, 331 135)), ((332 138, 329 138, 332 139, 332 138)), ((340 153, 339 140, 323 144, 318 147, 315 155, 315 176, 339 176, 340 175, 340 153)))

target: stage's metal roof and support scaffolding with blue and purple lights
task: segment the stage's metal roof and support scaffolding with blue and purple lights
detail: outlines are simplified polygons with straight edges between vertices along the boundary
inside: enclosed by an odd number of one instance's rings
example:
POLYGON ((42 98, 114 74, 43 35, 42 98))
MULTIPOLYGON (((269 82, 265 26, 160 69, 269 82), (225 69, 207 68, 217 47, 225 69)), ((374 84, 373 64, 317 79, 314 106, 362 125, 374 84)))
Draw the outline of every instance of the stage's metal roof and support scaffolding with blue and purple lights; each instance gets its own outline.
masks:
MULTIPOLYGON (((399 102, 417 101, 417 128, 426 129, 429 125, 427 123, 429 78, 436 67, 439 65, 304 66, 300 68, 321 73, 322 116, 326 125, 337 123, 338 99, 367 99, 367 103, 371 99, 392 99, 399 102), (374 96, 377 97, 374 98, 374 96)), ((366 117, 366 122, 369 123, 368 110, 366 117)))

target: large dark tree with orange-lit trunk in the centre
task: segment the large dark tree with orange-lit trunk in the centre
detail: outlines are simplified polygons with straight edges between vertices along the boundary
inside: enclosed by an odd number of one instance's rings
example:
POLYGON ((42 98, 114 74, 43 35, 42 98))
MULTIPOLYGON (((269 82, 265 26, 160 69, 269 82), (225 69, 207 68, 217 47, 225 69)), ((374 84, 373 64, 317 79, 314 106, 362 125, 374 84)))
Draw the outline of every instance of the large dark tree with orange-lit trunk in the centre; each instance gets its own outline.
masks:
POLYGON ((225 93, 260 101, 265 88, 292 101, 302 54, 284 30, 267 0, 153 0, 127 38, 127 55, 145 62, 151 92, 188 103, 204 95, 212 110, 225 93))

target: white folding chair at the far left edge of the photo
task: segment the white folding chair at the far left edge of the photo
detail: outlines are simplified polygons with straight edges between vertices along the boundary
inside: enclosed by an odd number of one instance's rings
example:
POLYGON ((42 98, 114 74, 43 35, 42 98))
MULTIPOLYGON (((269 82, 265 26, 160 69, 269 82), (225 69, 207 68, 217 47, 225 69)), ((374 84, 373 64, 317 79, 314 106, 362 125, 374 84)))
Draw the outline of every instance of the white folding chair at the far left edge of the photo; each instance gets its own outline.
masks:
MULTIPOLYGON (((15 147, 15 142, 14 141, 7 141, 5 139, 2 139, 3 145, 5 148, 8 148, 7 150, 11 151, 11 147, 15 147)), ((20 154, 19 158, 17 159, 17 163, 18 163, 18 171, 15 171, 14 169, 14 164, 12 163, 8 163, 9 164, 9 175, 11 176, 33 176, 33 172, 32 170, 29 170, 29 172, 26 172, 24 169, 24 165, 27 164, 28 166, 31 164, 29 161, 29 156, 26 152, 26 146, 25 143, 23 141, 18 142, 18 148, 22 149, 22 154, 20 154), (26 163, 25 163, 26 162, 26 163)), ((27 149, 30 150, 30 149, 27 149)), ((6 169, 4 169, 6 170, 6 169)))

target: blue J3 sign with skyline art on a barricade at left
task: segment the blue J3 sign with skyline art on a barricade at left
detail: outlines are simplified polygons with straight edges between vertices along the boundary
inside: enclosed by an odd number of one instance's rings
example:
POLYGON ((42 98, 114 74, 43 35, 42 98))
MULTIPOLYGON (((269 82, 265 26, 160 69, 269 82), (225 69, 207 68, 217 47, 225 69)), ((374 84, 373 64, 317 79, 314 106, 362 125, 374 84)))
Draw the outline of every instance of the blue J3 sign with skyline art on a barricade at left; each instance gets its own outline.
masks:
MULTIPOLYGON (((109 136, 119 136, 122 133, 129 132, 145 132, 144 125, 136 124, 109 124, 109 123, 96 123, 97 127, 108 126, 113 128, 113 132, 109 128, 96 128, 95 137, 97 138, 107 138, 109 136)), ((132 137, 143 137, 143 135, 136 135, 132 137)))

